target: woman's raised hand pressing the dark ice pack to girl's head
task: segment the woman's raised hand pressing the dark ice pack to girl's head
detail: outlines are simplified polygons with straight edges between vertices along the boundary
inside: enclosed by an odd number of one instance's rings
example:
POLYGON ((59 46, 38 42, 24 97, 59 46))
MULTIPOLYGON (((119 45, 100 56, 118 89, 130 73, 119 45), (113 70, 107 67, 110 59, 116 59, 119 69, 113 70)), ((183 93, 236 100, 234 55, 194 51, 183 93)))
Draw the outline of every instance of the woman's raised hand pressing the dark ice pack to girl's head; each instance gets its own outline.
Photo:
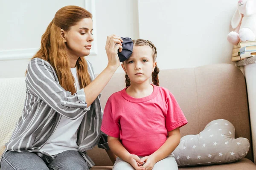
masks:
POLYGON ((108 66, 115 70, 120 65, 117 50, 119 50, 119 52, 122 51, 122 42, 122 38, 115 34, 112 34, 107 37, 105 50, 108 56, 108 66))

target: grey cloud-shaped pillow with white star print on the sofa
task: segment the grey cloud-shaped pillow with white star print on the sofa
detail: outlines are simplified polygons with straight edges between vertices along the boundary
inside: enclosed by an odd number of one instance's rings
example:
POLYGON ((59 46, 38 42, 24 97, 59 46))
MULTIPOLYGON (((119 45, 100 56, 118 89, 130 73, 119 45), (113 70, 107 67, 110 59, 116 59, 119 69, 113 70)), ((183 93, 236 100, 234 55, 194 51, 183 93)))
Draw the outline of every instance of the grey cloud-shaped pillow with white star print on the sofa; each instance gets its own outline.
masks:
POLYGON ((235 139, 235 127, 229 121, 217 119, 199 134, 183 136, 173 154, 179 167, 225 164, 244 158, 249 148, 248 139, 235 139))

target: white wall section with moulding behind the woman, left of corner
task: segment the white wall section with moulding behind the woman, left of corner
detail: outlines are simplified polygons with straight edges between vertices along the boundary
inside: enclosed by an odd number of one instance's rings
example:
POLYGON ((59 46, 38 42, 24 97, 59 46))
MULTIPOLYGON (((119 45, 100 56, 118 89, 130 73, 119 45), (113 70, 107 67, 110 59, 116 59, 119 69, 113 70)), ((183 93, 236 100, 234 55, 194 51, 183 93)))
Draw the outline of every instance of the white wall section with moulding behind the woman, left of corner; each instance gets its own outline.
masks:
MULTIPOLYGON (((41 36, 59 8, 67 5, 85 7, 88 0, 7 1, 0 0, 0 78, 24 77, 26 67, 40 47, 41 36), (24 51, 15 51, 15 50, 24 51), (24 54, 20 56, 19 53, 24 54), (7 56, 7 54, 14 54, 7 56), (7 57, 6 57, 7 56, 7 57), (15 59, 10 59, 16 56, 15 59), (4 58, 4 60, 3 60, 4 58), (24 59, 25 58, 25 59, 24 59)), ((94 2, 93 0, 89 0, 94 2)), ((106 38, 110 34, 139 38, 137 0, 95 0, 97 55, 87 59, 95 73, 108 64, 106 38), (123 8, 125 6, 125 8, 123 8)), ((122 68, 119 68, 122 71, 122 68)))

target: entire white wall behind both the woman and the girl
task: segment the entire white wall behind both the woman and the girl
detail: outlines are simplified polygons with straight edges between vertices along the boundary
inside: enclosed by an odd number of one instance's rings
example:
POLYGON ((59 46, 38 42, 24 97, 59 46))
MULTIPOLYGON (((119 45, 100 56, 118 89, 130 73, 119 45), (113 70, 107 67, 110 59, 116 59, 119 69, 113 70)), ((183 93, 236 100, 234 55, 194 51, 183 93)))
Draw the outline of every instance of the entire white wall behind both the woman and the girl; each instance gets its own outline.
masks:
MULTIPOLYGON (((41 35, 55 12, 66 5, 85 7, 86 1, 0 1, 0 78, 23 77, 29 58, 40 47, 41 35), (13 50, 17 49, 28 52, 24 53, 26 59, 18 55, 22 51, 15 54, 13 50), (6 54, 18 57, 3 60, 6 54)), ((97 55, 87 59, 99 74, 108 63, 106 37, 114 33, 151 40, 157 46, 160 69, 231 63, 232 45, 226 37, 231 31, 236 3, 234 0, 95 0, 97 55)))

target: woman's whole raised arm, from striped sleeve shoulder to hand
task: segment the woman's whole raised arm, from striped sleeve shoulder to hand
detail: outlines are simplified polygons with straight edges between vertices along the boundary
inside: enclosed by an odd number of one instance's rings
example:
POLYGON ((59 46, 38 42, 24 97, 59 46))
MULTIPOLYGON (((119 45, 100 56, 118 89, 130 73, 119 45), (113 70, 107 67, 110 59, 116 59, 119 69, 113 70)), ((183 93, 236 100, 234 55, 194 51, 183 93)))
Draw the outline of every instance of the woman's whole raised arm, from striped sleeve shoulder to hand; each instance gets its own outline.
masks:
POLYGON ((121 43, 119 38, 115 36, 108 37, 106 42, 109 60, 107 68, 102 71, 95 81, 91 82, 86 88, 77 91, 76 94, 71 94, 70 91, 66 91, 61 87, 58 79, 55 77, 54 68, 52 68, 49 62, 40 58, 32 59, 29 62, 26 74, 28 92, 46 102, 47 105, 62 116, 69 119, 77 119, 89 110, 88 107, 119 67, 120 62, 117 50, 120 48, 120 51, 122 46, 119 44, 116 46, 112 45, 114 43, 121 43))

